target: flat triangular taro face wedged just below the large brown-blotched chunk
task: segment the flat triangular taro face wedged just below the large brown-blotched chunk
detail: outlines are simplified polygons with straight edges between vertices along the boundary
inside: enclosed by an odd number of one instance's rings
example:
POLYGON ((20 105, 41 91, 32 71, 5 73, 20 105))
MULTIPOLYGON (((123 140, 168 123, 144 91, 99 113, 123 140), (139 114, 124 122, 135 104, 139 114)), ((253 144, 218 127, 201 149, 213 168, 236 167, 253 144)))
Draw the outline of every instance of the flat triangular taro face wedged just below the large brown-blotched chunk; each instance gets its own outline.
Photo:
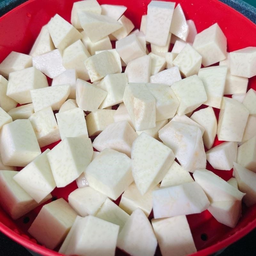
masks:
POLYGON ((191 177, 190 173, 184 170, 180 164, 176 161, 173 161, 171 167, 167 171, 164 176, 164 179, 161 182, 160 187, 171 187, 177 186, 187 182, 193 182, 193 178, 191 177))

